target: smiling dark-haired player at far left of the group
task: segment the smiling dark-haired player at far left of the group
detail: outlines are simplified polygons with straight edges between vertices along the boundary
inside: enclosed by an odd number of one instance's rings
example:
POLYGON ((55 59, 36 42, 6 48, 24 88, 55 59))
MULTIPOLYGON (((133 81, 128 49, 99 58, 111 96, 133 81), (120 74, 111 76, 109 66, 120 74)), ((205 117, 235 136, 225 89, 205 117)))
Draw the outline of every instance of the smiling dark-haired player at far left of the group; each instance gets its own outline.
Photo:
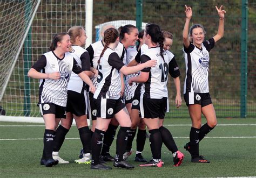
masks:
POLYGON ((48 53, 32 66, 28 72, 29 77, 40 80, 39 106, 45 123, 44 151, 41 165, 51 167, 57 165, 58 160, 52 159, 53 140, 55 138, 56 123, 60 118, 66 117, 66 102, 68 98, 68 82, 71 72, 95 91, 90 78, 82 72, 70 51, 70 36, 67 33, 57 33, 51 42, 48 53))

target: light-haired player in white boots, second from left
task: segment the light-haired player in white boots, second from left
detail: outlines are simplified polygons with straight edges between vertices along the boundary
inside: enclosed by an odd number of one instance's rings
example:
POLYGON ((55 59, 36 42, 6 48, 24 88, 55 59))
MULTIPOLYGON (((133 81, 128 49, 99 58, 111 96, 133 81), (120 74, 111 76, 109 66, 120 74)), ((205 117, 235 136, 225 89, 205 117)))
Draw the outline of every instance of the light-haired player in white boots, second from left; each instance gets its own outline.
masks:
MULTIPOLYGON (((69 52, 76 60, 83 72, 92 77, 90 69, 89 53, 83 48, 87 36, 82 26, 73 26, 68 30, 71 38, 72 51, 69 52)), ((60 158, 58 152, 62 146, 66 134, 72 125, 73 118, 76 120, 77 129, 79 131, 80 140, 83 144, 82 159, 75 160, 77 163, 90 163, 91 161, 91 132, 87 124, 87 95, 85 90, 85 83, 80 77, 71 73, 68 84, 68 103, 66 106, 66 118, 61 119, 61 123, 56 130, 55 144, 53 146, 53 159, 59 163, 69 163, 60 158)))

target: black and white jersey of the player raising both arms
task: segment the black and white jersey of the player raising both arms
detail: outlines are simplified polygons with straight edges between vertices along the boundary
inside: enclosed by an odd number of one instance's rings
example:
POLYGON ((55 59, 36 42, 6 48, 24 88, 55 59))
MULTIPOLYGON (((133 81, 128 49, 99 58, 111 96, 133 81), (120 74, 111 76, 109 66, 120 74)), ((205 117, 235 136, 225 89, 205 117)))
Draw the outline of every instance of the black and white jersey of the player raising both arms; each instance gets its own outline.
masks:
POLYGON ((188 48, 185 46, 186 78, 184 82, 184 94, 186 92, 209 92, 208 69, 209 52, 214 47, 214 39, 203 42, 201 49, 192 43, 188 48))

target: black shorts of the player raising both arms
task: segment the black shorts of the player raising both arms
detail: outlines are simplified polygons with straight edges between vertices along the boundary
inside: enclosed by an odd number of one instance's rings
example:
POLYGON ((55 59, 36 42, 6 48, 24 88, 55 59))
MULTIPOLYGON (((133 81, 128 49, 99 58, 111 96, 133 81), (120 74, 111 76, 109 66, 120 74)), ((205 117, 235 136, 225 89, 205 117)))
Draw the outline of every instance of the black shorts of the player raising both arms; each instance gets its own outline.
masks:
POLYGON ((198 92, 186 92, 184 94, 184 99, 187 106, 190 104, 200 104, 203 108, 204 106, 212 104, 212 99, 208 92, 204 94, 198 92))

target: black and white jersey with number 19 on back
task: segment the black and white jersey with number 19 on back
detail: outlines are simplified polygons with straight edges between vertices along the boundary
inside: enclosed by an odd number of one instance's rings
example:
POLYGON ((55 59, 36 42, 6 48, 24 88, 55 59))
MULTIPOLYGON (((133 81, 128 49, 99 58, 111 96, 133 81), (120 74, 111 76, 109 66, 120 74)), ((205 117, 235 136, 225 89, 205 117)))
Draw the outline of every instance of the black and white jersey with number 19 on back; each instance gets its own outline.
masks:
POLYGON ((149 79, 143 84, 141 93, 147 98, 160 99, 168 97, 167 81, 168 73, 172 77, 180 75, 174 55, 170 51, 163 52, 164 59, 160 55, 160 47, 151 47, 141 56, 142 63, 148 60, 157 60, 157 65, 145 68, 142 72, 149 72, 149 79))

